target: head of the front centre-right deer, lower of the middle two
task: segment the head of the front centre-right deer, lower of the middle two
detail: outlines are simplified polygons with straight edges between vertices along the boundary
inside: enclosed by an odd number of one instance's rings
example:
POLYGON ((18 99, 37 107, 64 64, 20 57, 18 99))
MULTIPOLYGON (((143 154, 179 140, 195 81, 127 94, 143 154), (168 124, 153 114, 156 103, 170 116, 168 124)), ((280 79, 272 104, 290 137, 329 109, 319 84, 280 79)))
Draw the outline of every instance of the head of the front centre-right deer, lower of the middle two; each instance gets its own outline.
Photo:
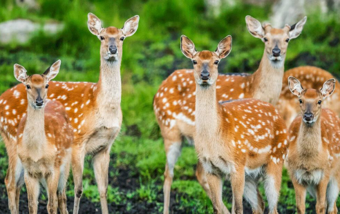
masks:
POLYGON ((200 86, 210 86, 218 77, 218 63, 232 50, 232 36, 222 39, 215 52, 209 50, 197 52, 193 42, 183 35, 180 37, 180 49, 193 63, 196 83, 200 86))

